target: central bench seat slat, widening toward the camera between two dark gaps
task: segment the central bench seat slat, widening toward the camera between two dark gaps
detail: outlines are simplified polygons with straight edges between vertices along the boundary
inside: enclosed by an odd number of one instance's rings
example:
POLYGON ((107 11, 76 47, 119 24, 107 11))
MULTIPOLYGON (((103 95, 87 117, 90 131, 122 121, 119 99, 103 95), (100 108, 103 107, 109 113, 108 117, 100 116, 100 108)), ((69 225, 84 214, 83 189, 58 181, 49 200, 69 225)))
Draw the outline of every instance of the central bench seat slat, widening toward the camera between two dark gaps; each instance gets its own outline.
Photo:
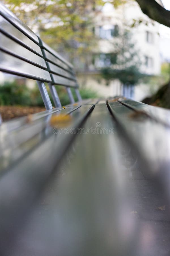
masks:
MULTIPOLYGON (((121 135, 115 123, 109 125, 103 107, 99 107, 98 113, 95 110, 97 106, 85 129, 100 122, 101 128, 112 127, 121 135)), ((164 202, 159 187, 141 173, 140 178, 135 176, 137 172, 131 170, 127 152, 131 148, 120 139, 116 134, 90 132, 77 136, 27 218, 15 246, 16 255, 25 255, 27 248, 32 248, 31 255, 41 255, 34 249, 40 241, 44 255, 160 255, 158 248, 165 249, 162 237, 169 242, 168 203, 166 211, 158 210, 157 205, 164 202), (145 247, 141 237, 148 227, 154 235, 152 246, 145 247), (74 236, 73 230, 77 231, 74 236)))

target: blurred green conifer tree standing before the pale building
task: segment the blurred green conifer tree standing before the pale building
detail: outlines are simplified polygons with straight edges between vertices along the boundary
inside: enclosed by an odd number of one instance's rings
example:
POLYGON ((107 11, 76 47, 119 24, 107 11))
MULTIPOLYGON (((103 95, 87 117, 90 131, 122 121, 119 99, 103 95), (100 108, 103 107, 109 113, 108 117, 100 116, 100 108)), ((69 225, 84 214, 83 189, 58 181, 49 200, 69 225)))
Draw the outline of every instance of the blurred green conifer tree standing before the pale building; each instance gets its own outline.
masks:
POLYGON ((139 79, 146 75, 140 72, 141 61, 135 49, 135 44, 131 42, 131 34, 127 30, 119 33, 117 40, 113 43, 114 61, 109 67, 101 70, 103 78, 107 81, 119 79, 126 85, 135 85, 139 79))

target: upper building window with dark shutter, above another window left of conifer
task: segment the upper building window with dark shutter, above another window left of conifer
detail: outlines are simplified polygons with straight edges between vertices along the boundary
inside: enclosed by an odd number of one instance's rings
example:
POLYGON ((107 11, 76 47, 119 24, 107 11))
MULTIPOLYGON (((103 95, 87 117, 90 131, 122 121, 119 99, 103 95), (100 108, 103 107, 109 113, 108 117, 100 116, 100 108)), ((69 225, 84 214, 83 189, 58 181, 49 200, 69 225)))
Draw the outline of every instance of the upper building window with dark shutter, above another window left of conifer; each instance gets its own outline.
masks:
POLYGON ((118 25, 104 25, 99 27, 99 37, 102 39, 111 39, 118 36, 118 25))

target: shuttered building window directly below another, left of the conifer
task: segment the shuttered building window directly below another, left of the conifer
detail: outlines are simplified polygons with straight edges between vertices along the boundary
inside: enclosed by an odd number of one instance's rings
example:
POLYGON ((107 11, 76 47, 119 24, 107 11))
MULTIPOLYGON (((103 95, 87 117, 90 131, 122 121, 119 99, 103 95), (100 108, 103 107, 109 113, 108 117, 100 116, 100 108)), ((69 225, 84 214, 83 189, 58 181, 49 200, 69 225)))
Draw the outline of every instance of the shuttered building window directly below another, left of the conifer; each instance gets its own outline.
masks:
POLYGON ((117 54, 115 53, 100 53, 94 56, 93 64, 97 68, 110 67, 116 63, 117 54))

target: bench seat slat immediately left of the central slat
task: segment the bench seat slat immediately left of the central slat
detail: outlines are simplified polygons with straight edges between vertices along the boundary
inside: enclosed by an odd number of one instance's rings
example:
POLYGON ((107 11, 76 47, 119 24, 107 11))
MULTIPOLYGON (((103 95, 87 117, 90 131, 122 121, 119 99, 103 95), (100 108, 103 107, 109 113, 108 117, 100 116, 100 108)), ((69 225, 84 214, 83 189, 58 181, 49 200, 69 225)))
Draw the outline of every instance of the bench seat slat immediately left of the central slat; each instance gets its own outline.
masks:
MULTIPOLYGON (((82 106, 71 114, 70 128, 77 129, 93 110, 93 106, 82 106)), ((23 224, 24 218, 31 209, 33 202, 42 191, 54 168, 59 164, 66 150, 73 141, 74 133, 46 135, 40 133, 41 144, 34 147, 25 155, 17 165, 11 166, 0 179, 0 241, 2 255, 9 255, 7 244, 16 239, 18 228, 23 224), (10 186, 9 186, 10 184, 10 186), (17 212, 17 214, 16 214, 17 212), (4 236, 8 234, 8 236, 4 236)), ((22 147, 21 147, 22 150, 22 147)))

